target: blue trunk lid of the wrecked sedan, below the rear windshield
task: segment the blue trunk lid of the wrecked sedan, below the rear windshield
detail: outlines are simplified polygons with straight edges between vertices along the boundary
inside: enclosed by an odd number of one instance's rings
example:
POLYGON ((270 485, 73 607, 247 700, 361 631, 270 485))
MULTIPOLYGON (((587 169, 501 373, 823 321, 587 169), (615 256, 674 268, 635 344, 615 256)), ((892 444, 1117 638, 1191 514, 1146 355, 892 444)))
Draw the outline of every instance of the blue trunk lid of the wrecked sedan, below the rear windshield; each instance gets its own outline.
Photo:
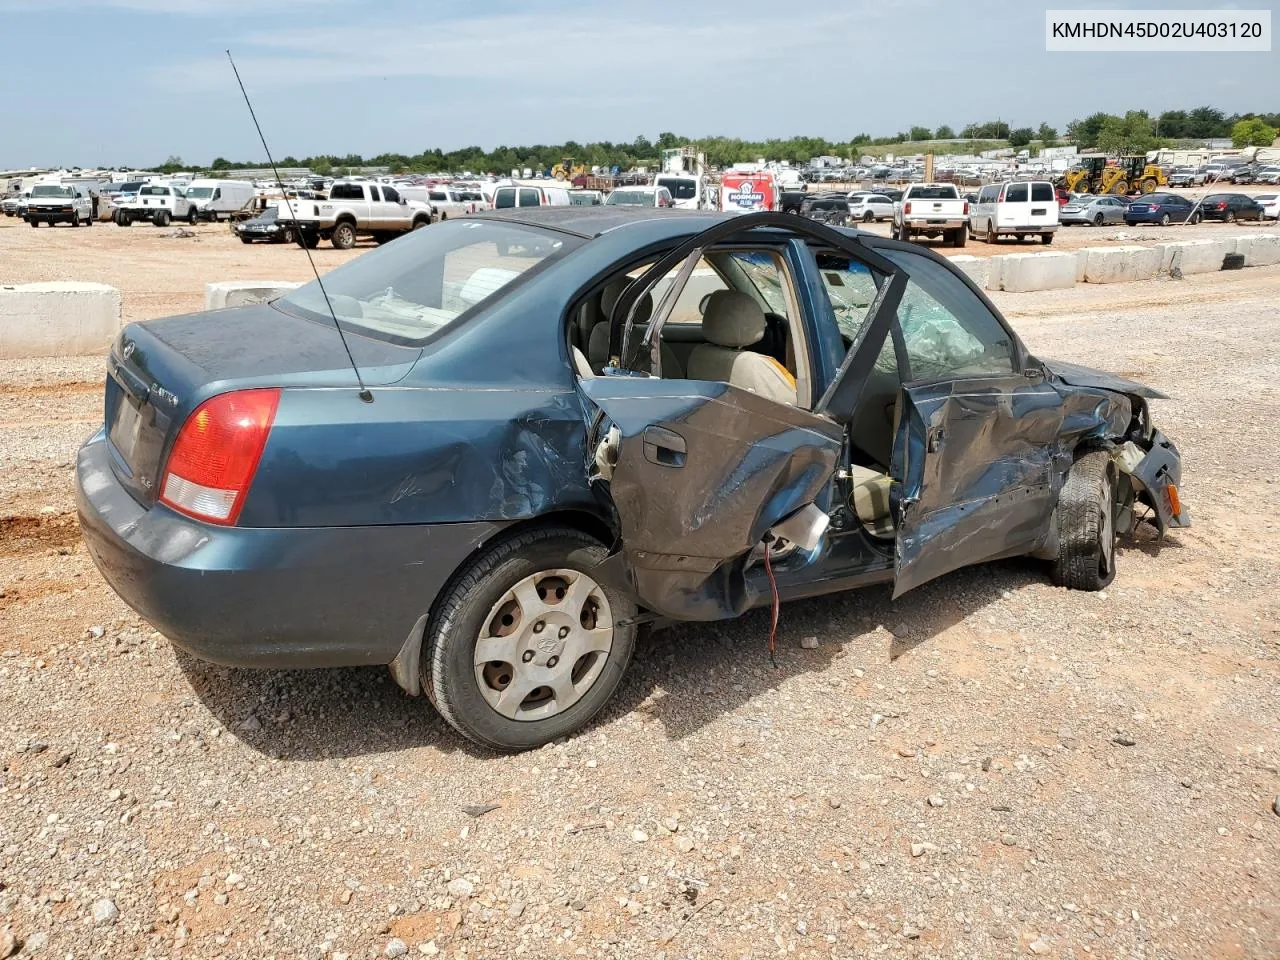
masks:
MULTIPOLYGON (((365 383, 403 379, 421 355, 347 333, 365 383)), ((104 422, 116 477, 143 506, 155 502, 169 448, 209 397, 253 387, 349 387, 356 376, 333 321, 268 303, 129 324, 108 357, 104 422)))

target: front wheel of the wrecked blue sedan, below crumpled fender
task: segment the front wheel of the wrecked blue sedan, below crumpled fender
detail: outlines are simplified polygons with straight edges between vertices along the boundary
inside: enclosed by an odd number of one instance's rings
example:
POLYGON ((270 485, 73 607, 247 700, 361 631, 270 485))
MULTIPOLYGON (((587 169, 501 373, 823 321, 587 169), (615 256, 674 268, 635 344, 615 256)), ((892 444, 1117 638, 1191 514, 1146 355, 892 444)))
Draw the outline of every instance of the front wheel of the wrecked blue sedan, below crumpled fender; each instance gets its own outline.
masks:
POLYGON ((1085 453, 1057 497, 1057 559, 1053 582, 1073 590, 1102 590, 1116 575, 1115 481, 1111 457, 1085 453))

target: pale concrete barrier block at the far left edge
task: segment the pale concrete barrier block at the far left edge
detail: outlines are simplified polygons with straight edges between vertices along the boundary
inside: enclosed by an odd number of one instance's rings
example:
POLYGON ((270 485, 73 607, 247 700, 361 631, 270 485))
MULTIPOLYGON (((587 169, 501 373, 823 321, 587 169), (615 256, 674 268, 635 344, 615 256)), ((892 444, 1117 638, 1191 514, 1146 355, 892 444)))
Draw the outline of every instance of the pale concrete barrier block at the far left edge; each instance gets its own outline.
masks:
POLYGON ((120 292, 104 283, 0 287, 0 358, 105 355, 124 326, 120 292))

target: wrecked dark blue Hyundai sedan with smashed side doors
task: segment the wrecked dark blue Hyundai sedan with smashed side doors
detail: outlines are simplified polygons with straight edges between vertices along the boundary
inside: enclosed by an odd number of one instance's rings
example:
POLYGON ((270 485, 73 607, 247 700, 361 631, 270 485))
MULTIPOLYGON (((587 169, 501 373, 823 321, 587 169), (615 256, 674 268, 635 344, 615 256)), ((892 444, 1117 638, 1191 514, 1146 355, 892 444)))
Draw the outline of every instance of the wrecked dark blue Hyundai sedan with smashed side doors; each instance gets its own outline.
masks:
POLYGON ((1033 356, 923 247, 526 207, 128 325, 77 503, 177 646, 389 664, 518 750, 588 723, 646 625, 1019 554, 1105 588, 1117 535, 1189 524, 1161 397, 1033 356))

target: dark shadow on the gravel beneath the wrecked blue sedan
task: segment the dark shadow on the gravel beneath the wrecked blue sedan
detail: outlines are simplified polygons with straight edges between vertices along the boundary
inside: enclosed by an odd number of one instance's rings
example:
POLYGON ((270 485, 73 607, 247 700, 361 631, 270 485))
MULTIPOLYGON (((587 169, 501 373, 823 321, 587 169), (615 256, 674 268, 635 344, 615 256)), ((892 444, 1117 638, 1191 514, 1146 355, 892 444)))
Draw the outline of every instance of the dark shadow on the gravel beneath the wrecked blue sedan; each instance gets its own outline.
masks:
MULTIPOLYGON (((641 635, 622 685, 591 726, 634 716, 659 722, 678 740, 838 657, 854 655, 865 667, 909 658, 1001 594, 1046 581, 1043 566, 1014 559, 951 573, 897 600, 884 585, 788 603, 778 620, 776 666, 768 609, 641 635), (803 649, 805 637, 818 646, 803 649)), ((234 669, 175 654, 205 707, 268 756, 326 760, 422 746, 497 755, 458 736, 426 698, 407 696, 384 667, 234 669)))

